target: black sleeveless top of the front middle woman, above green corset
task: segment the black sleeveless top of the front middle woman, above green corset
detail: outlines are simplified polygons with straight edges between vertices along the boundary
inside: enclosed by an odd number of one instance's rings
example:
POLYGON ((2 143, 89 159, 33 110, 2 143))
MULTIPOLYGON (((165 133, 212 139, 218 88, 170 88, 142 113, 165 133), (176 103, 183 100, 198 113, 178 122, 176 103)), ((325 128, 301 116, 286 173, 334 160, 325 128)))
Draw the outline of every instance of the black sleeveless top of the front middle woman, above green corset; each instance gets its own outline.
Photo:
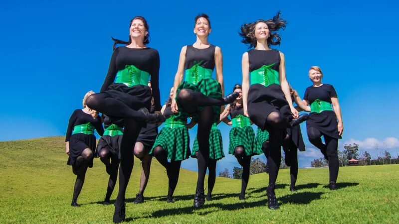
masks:
POLYGON ((192 68, 196 63, 200 63, 200 66, 213 71, 215 67, 215 46, 209 45, 208 48, 199 49, 193 47, 193 45, 187 45, 186 49, 186 65, 185 69, 192 68))

